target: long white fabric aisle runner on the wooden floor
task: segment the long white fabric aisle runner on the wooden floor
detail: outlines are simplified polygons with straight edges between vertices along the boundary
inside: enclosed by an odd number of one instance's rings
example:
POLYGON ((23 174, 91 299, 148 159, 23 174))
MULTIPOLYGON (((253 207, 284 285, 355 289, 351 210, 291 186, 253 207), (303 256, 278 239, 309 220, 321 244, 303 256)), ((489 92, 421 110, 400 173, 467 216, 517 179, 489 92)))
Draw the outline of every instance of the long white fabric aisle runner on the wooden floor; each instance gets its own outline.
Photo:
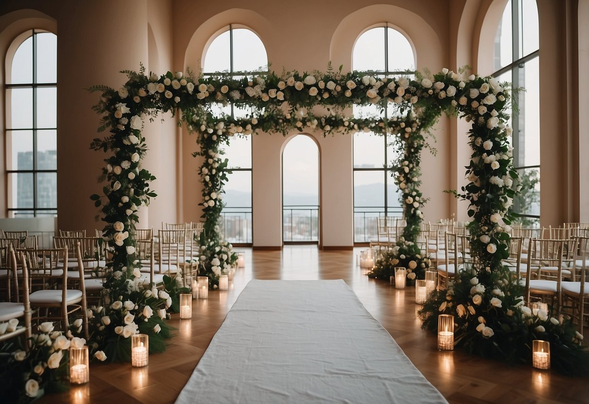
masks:
POLYGON ((186 403, 445 403, 343 280, 252 280, 186 403))

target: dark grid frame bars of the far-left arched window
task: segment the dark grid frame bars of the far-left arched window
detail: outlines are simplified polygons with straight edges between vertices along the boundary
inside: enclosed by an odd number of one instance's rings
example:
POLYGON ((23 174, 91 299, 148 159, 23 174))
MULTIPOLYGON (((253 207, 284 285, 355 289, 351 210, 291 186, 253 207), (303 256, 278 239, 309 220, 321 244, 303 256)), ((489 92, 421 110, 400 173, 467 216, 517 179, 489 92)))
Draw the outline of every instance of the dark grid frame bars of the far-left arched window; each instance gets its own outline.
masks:
MULTIPOLYGON (((27 32, 29 32, 29 30, 22 32, 21 35, 19 35, 17 38, 15 38, 15 40, 13 41, 13 44, 15 41, 19 41, 22 37, 24 37, 24 34, 26 34, 27 32)), ((11 60, 5 60, 5 65, 7 68, 6 71, 6 80, 5 80, 5 85, 4 85, 4 94, 6 99, 8 98, 8 92, 11 91, 14 88, 31 88, 32 89, 32 127, 30 128, 12 128, 12 127, 8 127, 8 125, 6 125, 6 127, 4 128, 4 134, 5 134, 5 143, 8 142, 8 133, 15 133, 18 131, 31 131, 32 132, 32 161, 33 161, 33 167, 30 170, 19 170, 18 168, 16 170, 14 169, 9 169, 8 167, 8 155, 12 153, 12 148, 6 147, 5 148, 5 173, 6 173, 6 183, 10 184, 12 183, 12 180, 10 177, 11 176, 18 176, 18 174, 32 174, 33 177, 33 184, 32 184, 32 188, 33 188, 33 200, 32 200, 32 207, 18 207, 18 205, 16 207, 14 207, 14 205, 12 204, 12 191, 7 192, 6 193, 6 214, 8 217, 18 217, 18 212, 25 212, 26 214, 32 214, 33 217, 39 217, 39 216, 47 216, 47 214, 51 214, 54 213, 54 216, 57 217, 57 200, 56 200, 56 206, 55 207, 39 207, 38 206, 38 186, 37 186, 37 181, 38 181, 38 174, 43 174, 43 173, 55 173, 56 177, 57 177, 57 165, 55 167, 55 170, 47 170, 47 169, 39 169, 38 167, 38 157, 37 157, 37 151, 38 151, 38 147, 37 147, 37 138, 38 138, 38 131, 44 131, 44 130, 54 130, 56 133, 58 131, 57 128, 57 117, 56 117, 56 125, 55 127, 38 127, 37 125, 37 90, 39 88, 55 88, 55 90, 57 91, 57 81, 56 82, 44 82, 44 83, 38 83, 37 82, 37 35, 38 34, 45 34, 45 33, 49 33, 49 34, 54 34, 54 32, 51 31, 46 31, 44 29, 30 29, 31 35, 24 37, 24 39, 22 39, 21 43, 15 47, 15 52, 14 54, 11 55, 11 60), (12 62, 14 61, 14 55, 16 53, 16 50, 18 50, 18 48, 20 48, 22 46, 22 44, 24 44, 25 41, 27 41, 27 39, 32 37, 32 82, 31 83, 19 83, 19 84, 12 84, 8 82, 8 74, 11 75, 11 80, 12 81, 12 62)), ((55 34, 54 34, 55 35, 55 34)), ((57 37, 57 35, 55 35, 57 37)), ((11 94, 12 97, 12 94, 11 94)), ((5 116, 6 116, 6 121, 8 121, 8 115, 9 115, 9 111, 10 108, 12 106, 8 105, 8 102, 6 102, 5 105, 5 116)), ((11 122, 12 124, 12 122, 11 122)), ((57 141, 55 144, 55 148, 57 151, 57 141)), ((57 183, 56 183, 57 186, 57 183)), ((18 198, 18 188, 17 188, 17 198, 18 198)))

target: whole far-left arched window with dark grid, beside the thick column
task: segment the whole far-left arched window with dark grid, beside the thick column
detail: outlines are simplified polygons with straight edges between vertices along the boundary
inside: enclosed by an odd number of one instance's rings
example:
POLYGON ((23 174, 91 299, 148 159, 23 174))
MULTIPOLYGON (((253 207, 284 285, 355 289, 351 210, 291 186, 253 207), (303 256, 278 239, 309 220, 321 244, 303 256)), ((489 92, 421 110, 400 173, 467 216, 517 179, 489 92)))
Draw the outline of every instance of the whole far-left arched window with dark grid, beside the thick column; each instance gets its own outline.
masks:
POLYGON ((57 36, 32 30, 6 59, 8 217, 57 215, 57 36))

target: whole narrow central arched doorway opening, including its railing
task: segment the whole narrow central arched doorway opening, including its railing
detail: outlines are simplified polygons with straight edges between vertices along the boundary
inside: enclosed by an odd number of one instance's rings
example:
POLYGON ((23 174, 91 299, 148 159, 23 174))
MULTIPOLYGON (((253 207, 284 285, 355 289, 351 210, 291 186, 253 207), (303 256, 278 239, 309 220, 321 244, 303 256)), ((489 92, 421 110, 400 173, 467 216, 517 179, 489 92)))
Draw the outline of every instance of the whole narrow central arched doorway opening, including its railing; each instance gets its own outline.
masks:
POLYGON ((282 240, 319 243, 319 147, 295 135, 282 152, 282 240))

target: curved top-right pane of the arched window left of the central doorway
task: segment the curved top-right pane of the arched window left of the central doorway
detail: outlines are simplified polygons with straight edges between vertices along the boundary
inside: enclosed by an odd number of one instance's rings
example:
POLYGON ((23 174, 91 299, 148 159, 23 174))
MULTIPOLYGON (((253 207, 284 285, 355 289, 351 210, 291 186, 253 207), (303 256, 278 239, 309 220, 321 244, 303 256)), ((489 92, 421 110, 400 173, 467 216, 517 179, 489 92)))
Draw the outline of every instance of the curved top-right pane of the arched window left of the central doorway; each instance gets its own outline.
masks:
POLYGON ((267 70, 268 55, 260 38, 245 28, 233 30, 233 71, 267 70))

